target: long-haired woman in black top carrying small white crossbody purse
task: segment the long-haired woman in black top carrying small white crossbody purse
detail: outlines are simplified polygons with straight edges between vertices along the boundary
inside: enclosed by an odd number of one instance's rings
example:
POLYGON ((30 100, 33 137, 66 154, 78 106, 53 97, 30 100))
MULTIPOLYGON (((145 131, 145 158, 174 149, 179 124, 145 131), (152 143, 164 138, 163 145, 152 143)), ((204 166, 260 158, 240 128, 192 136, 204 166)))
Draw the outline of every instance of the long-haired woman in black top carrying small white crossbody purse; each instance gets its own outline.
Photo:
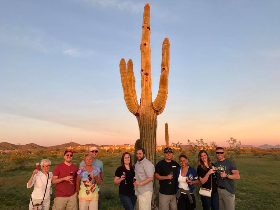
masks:
POLYGON ((211 189, 212 179, 212 193, 211 197, 200 195, 203 210, 218 210, 219 209, 219 196, 217 190, 217 183, 215 175, 215 166, 211 163, 209 156, 205 150, 200 150, 198 153, 198 167, 197 174, 203 188, 211 189), (214 166, 214 167, 213 167, 214 166), (213 168, 212 168, 213 167, 213 168))

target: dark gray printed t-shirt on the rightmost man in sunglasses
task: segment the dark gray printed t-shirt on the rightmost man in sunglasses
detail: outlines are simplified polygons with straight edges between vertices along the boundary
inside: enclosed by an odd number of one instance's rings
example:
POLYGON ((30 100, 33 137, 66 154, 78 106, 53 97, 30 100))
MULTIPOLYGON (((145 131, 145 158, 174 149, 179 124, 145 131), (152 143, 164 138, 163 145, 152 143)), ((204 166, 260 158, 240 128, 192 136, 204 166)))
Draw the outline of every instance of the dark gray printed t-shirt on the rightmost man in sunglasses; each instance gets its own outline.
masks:
POLYGON ((216 161, 215 163, 215 168, 216 168, 216 173, 217 173, 217 184, 220 187, 224 187, 227 191, 229 191, 231 194, 235 195, 235 190, 234 190, 234 180, 229 179, 229 178, 223 178, 221 179, 220 176, 220 169, 221 166, 225 167, 225 173, 226 174, 232 174, 231 171, 237 170, 237 167, 233 162, 230 160, 223 160, 223 161, 216 161))

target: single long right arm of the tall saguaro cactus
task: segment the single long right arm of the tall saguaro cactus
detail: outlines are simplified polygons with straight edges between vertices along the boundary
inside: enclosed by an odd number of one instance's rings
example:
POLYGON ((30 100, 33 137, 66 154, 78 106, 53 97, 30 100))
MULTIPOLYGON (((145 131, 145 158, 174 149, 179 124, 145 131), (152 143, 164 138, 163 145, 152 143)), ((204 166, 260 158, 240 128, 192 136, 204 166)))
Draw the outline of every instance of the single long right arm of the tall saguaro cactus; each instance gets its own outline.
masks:
POLYGON ((160 87, 157 97, 153 102, 153 107, 157 115, 163 112, 168 94, 168 74, 169 74, 169 40, 164 38, 162 43, 162 62, 160 74, 160 87))

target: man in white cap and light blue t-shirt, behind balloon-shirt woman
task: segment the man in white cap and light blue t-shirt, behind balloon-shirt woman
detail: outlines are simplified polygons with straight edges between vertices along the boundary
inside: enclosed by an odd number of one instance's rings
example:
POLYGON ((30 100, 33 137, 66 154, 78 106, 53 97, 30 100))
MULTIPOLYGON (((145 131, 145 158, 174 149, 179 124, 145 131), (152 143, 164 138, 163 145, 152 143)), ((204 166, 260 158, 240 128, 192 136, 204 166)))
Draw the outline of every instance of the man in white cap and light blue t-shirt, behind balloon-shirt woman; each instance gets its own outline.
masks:
MULTIPOLYGON (((89 154, 92 156, 92 166, 95 166, 97 168, 99 168, 100 172, 100 177, 101 177, 101 183, 103 182, 103 178, 104 178, 104 171, 103 171, 103 163, 97 159, 97 153, 98 153, 98 149, 97 147, 91 147, 89 154)), ((81 167, 85 167, 85 161, 82 160, 82 162, 80 163, 79 169, 81 167)), ((100 185, 98 185, 99 191, 98 191, 98 209, 100 210, 101 207, 101 196, 100 196, 100 185)))

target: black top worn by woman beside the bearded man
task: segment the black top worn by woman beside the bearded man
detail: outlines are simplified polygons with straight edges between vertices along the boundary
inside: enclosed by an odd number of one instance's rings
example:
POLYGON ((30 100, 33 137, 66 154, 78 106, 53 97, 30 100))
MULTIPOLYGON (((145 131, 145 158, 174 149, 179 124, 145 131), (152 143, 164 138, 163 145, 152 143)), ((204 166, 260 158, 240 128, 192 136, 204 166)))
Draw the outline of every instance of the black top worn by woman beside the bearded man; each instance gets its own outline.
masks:
POLYGON ((134 195, 134 185, 133 185, 133 177, 135 176, 134 166, 130 168, 130 170, 123 169, 121 166, 117 168, 115 171, 115 176, 121 177, 122 172, 125 172, 126 178, 120 182, 119 186, 119 194, 121 195, 134 195), (125 185, 126 181, 126 185, 125 185))

